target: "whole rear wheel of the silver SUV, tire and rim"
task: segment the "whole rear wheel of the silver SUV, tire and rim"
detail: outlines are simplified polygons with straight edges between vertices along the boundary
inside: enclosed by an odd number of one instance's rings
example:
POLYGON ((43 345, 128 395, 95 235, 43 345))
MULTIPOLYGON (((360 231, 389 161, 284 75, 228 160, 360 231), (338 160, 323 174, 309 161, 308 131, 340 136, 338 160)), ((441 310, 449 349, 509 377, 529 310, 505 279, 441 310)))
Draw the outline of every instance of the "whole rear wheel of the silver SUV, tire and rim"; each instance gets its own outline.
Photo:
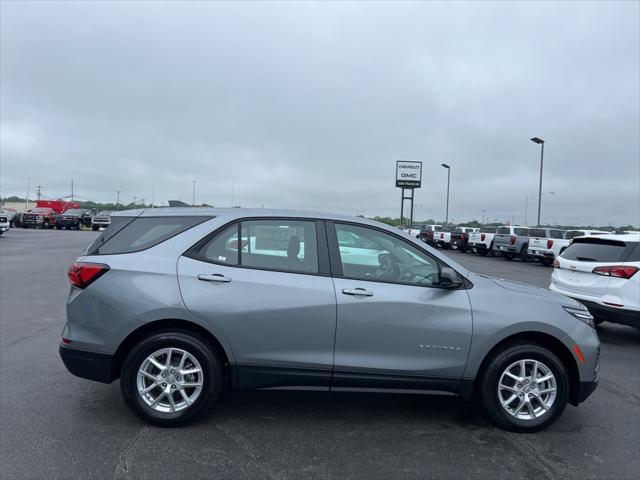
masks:
POLYGON ((207 413, 222 389, 222 363, 209 342, 182 330, 154 333, 131 349, 120 387, 148 423, 176 427, 207 413))

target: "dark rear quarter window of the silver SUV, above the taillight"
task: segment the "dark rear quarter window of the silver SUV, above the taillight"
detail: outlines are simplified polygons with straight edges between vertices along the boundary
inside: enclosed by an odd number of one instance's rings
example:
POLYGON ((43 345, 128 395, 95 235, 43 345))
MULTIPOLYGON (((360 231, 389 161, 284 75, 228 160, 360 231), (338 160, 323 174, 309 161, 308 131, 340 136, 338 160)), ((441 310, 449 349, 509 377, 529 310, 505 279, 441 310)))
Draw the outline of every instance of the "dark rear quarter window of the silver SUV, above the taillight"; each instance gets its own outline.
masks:
POLYGON ((113 217, 87 255, 132 253, 151 248, 212 217, 113 217))

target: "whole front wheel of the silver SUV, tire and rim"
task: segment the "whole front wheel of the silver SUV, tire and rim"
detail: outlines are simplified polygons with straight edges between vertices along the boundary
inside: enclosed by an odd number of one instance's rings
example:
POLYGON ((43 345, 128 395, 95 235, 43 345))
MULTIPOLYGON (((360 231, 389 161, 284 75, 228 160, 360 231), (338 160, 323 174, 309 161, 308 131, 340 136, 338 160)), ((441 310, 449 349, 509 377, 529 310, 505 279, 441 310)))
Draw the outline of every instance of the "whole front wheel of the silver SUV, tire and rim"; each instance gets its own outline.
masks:
POLYGON ((553 423, 569 398, 569 376, 558 357, 538 344, 497 354, 480 381, 487 415, 507 430, 534 432, 553 423))

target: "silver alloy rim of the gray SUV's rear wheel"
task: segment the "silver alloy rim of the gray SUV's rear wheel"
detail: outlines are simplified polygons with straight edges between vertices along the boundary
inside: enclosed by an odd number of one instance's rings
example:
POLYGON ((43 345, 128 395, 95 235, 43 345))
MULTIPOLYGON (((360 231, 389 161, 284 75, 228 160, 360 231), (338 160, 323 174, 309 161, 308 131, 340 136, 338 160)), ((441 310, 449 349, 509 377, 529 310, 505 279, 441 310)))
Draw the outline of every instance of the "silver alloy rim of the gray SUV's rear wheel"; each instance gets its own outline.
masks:
POLYGON ((136 385, 144 403, 161 413, 189 408, 202 392, 204 375, 198 359, 180 348, 163 348, 140 365, 136 385))

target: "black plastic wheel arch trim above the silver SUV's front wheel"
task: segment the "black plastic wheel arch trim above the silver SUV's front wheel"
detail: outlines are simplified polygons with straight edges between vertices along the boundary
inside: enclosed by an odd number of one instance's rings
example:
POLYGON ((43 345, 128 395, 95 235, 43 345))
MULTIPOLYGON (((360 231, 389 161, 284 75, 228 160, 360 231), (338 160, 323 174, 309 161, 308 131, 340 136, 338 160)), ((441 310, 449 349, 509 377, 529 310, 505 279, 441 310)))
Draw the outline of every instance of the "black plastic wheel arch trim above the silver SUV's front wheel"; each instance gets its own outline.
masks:
POLYGON ((562 343, 562 341, 558 340, 553 335, 536 331, 519 332, 513 335, 509 335, 508 337, 505 337, 498 343, 496 343, 485 354, 482 362, 480 363, 480 367, 477 370, 478 373, 475 378, 463 381, 461 395, 465 399, 474 397, 477 393, 478 386, 482 381, 482 376, 486 371, 487 364, 491 361, 491 359, 498 352, 504 350, 508 345, 523 342, 536 343, 538 345, 546 347, 560 359, 564 367, 567 369, 567 374, 569 375, 569 403, 571 403, 572 405, 577 405, 579 403, 578 393, 580 390, 580 373, 578 370, 578 364, 576 363, 575 358, 573 358, 571 350, 569 350, 569 348, 564 343, 562 343))

